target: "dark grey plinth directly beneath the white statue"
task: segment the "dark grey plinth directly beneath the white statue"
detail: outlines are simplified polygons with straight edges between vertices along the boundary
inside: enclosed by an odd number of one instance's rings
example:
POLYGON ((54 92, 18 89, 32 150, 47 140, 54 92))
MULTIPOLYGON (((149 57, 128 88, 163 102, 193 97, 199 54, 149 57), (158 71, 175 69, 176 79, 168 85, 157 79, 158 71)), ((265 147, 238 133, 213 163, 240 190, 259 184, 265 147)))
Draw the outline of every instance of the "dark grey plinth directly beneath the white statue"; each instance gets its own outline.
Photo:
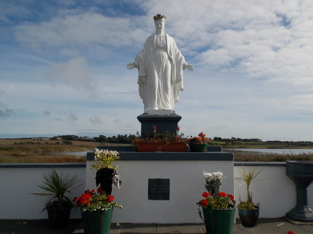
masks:
POLYGON ((182 116, 178 114, 170 115, 148 115, 148 113, 137 116, 141 123, 141 137, 153 135, 153 125, 156 126, 156 132, 164 133, 165 131, 176 134, 178 122, 182 116))

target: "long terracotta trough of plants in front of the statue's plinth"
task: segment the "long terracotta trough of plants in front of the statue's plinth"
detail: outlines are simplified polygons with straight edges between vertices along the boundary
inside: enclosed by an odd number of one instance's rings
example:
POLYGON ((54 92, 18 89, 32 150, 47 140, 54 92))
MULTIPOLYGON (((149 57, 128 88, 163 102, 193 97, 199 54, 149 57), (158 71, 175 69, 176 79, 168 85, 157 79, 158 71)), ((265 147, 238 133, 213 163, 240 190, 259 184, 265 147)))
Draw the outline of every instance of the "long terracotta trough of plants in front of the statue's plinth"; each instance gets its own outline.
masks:
POLYGON ((154 134, 148 135, 141 138, 137 131, 136 136, 132 140, 132 145, 137 145, 138 152, 185 152, 187 146, 187 138, 184 137, 183 133, 178 134, 177 132, 170 133, 165 131, 164 133, 156 133, 156 127, 154 127, 154 134))

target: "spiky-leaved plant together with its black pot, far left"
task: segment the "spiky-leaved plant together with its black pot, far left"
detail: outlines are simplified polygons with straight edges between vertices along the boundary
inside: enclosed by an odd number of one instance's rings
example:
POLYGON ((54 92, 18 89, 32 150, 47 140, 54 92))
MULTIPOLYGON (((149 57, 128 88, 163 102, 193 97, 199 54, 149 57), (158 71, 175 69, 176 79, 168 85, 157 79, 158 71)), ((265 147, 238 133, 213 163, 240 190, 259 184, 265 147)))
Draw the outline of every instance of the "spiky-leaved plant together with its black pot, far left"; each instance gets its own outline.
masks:
POLYGON ((37 186, 45 190, 44 193, 33 193, 37 196, 49 196, 44 209, 40 212, 48 211, 49 226, 59 228, 67 226, 70 211, 75 204, 65 193, 83 185, 83 180, 78 180, 79 175, 64 175, 57 173, 55 169, 44 173, 44 181, 37 186), (79 185, 78 185, 79 184, 79 185))

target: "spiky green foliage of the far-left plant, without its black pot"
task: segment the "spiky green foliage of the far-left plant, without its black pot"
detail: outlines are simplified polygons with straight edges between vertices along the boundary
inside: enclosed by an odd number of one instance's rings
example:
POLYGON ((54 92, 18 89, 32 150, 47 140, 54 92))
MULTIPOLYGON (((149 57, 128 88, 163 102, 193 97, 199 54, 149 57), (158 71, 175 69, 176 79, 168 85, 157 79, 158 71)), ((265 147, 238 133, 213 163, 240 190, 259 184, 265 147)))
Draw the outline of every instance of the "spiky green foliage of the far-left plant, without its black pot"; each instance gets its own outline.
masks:
POLYGON ((43 173, 44 181, 37 186, 44 189, 44 193, 32 193, 37 196, 49 196, 44 209, 40 212, 45 211, 45 209, 65 209, 69 207, 74 207, 75 204, 69 199, 69 197, 64 194, 70 193, 72 189, 75 189, 85 183, 83 180, 78 180, 79 175, 76 173, 74 176, 70 176, 68 173, 66 175, 63 172, 57 173, 55 169, 50 172, 43 173))

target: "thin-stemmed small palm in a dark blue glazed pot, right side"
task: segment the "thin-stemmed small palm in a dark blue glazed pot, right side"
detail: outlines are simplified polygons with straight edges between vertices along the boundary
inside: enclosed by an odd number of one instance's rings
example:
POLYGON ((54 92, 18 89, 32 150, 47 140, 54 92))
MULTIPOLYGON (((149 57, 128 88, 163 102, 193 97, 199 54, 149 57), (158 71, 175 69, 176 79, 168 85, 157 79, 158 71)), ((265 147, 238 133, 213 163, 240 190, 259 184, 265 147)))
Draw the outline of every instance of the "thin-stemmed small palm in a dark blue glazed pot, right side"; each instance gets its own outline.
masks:
MULTIPOLYGON (((239 195, 239 205, 238 207, 238 213, 239 213, 239 218, 243 226, 246 227, 253 227, 256 225, 256 222, 258 221, 259 218, 259 203, 255 204, 252 201, 252 192, 249 190, 249 186, 252 182, 255 182, 254 179, 261 170, 258 172, 254 172, 255 168, 252 170, 251 168, 249 169, 249 172, 246 172, 244 170, 244 166, 242 166, 242 171, 239 171, 241 177, 235 178, 240 181, 244 181, 243 184, 247 185, 247 201, 241 201, 240 200, 240 195, 239 195)), ((262 181, 262 180, 267 180, 267 179, 261 179, 257 181, 262 181)))

